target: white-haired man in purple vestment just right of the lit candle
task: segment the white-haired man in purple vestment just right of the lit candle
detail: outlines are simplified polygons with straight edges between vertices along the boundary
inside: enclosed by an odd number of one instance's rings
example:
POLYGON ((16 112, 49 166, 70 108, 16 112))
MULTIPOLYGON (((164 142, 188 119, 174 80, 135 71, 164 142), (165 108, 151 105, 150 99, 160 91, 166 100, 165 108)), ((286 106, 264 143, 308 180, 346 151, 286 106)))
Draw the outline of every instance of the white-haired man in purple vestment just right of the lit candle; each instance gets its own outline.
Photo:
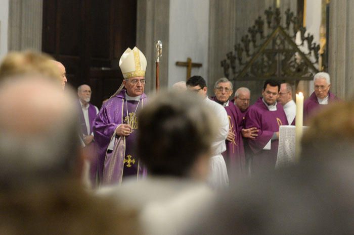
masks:
POLYGON ((329 91, 330 88, 331 83, 328 73, 320 72, 314 76, 315 91, 303 103, 303 119, 305 122, 326 104, 340 101, 338 97, 329 91))

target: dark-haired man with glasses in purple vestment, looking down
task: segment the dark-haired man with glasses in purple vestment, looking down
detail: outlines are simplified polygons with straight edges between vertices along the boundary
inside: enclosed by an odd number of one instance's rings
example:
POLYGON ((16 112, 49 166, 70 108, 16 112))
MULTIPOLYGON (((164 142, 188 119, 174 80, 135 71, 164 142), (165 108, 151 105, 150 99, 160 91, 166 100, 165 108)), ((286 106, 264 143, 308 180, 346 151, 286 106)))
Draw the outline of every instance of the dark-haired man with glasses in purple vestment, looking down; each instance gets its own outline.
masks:
POLYGON ((245 128, 256 127, 255 139, 249 139, 251 150, 251 172, 258 173, 274 169, 278 153, 279 127, 288 125, 288 120, 277 98, 280 82, 269 79, 264 82, 262 97, 248 108, 245 128))

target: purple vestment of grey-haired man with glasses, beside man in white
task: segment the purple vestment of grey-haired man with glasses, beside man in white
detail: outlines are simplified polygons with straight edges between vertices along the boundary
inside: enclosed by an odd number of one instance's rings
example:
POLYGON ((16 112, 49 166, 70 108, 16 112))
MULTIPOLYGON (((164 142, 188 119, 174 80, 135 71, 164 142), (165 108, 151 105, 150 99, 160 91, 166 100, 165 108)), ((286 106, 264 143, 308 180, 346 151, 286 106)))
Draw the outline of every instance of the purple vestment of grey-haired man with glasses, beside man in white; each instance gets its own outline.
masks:
MULTIPOLYGON (((225 105, 219 102, 216 97, 211 97, 211 99, 223 106, 225 105)), ((229 178, 231 179, 242 177, 242 175, 247 173, 242 134, 241 129, 239 129, 239 120, 241 119, 242 123, 242 117, 239 116, 241 115, 240 109, 232 101, 229 100, 227 106, 224 106, 224 108, 228 113, 229 128, 235 134, 234 141, 226 140, 226 151, 222 153, 228 167, 229 178)))

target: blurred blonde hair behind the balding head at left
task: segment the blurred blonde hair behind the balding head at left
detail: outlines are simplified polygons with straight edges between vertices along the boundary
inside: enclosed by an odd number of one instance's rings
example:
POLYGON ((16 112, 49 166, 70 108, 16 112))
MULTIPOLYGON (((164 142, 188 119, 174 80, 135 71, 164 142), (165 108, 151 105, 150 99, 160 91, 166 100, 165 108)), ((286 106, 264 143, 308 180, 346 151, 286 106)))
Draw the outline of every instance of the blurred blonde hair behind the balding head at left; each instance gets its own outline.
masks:
POLYGON ((58 67, 50 55, 31 50, 8 53, 0 64, 0 79, 24 74, 40 74, 62 81, 58 67))

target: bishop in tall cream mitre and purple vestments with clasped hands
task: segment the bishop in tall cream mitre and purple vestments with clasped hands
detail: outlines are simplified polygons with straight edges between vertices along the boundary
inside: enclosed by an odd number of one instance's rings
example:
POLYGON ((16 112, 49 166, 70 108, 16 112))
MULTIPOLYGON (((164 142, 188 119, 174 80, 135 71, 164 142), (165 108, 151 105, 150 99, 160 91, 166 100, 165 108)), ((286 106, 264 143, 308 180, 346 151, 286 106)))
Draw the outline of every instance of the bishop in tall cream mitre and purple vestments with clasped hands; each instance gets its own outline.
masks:
POLYGON ((120 88, 97 115, 94 136, 100 185, 140 179, 146 172, 135 154, 137 112, 144 106, 146 57, 137 47, 127 48, 119 60, 123 74, 120 88))

